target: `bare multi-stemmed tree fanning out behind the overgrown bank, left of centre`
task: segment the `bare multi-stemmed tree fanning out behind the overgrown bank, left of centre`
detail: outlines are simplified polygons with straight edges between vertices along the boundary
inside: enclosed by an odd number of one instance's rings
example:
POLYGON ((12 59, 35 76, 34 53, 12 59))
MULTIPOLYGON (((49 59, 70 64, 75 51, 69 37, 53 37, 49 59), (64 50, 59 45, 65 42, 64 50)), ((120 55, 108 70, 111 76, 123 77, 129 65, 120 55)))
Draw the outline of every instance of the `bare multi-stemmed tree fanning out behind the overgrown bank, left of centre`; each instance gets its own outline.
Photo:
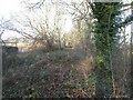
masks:
MULTIPOLYGON (((42 9, 29 11, 22 19, 16 19, 12 31, 19 32, 33 42, 45 48, 61 48, 62 6, 55 1, 47 1, 42 9), (31 14, 32 13, 32 14, 31 14)), ((32 8, 33 9, 33 8, 32 8)), ((21 17, 20 17, 21 18, 21 17)))

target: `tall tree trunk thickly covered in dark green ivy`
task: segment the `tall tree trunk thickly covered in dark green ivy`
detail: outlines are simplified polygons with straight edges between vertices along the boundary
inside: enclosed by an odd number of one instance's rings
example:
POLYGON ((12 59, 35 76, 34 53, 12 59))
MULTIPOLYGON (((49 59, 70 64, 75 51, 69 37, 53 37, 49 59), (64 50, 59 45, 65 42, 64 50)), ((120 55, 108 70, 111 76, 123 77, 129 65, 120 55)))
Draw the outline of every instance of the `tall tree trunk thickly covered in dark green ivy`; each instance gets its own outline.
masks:
POLYGON ((94 2, 92 6, 94 22, 96 97, 110 97, 112 90, 111 53, 117 43, 121 2, 94 2))

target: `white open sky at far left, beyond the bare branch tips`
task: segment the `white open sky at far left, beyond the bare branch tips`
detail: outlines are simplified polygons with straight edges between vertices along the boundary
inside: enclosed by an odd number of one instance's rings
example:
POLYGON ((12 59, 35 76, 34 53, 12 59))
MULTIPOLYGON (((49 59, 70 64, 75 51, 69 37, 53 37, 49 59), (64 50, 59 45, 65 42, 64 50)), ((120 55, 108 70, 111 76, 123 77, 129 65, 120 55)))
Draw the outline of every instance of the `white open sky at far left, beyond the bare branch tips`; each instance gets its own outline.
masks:
MULTIPOLYGON (((0 18, 10 19, 11 14, 18 13, 21 10, 21 0, 0 0, 0 18)), ((20 34, 12 31, 6 31, 2 34, 3 40, 10 37, 19 38, 20 34)))

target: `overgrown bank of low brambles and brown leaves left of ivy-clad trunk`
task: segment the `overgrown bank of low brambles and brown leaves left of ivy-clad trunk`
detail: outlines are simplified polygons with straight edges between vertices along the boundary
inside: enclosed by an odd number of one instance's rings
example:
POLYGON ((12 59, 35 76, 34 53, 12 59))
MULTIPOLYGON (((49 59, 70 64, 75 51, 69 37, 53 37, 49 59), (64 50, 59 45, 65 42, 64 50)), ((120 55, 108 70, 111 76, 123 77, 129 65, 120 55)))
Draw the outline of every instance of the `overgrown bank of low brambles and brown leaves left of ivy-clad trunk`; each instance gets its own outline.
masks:
POLYGON ((40 56, 39 52, 22 53, 16 56, 17 59, 10 57, 14 60, 11 61, 13 67, 3 74, 3 97, 91 97, 95 83, 91 59, 81 59, 79 53, 62 50, 40 56))

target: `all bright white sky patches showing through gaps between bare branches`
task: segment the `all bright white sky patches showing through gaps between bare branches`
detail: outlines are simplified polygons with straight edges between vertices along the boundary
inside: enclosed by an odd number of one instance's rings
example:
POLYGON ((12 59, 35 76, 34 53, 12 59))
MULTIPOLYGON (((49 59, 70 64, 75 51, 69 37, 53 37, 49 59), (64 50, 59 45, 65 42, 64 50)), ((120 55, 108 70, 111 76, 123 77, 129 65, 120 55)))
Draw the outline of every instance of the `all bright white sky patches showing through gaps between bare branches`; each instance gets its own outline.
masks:
MULTIPOLYGON (((35 1, 35 0, 30 0, 30 1, 35 1)), ((39 1, 39 0, 37 0, 37 1, 39 1)), ((70 0, 66 0, 66 1, 70 1, 70 0)), ((129 2, 131 0, 124 0, 124 1, 129 2)), ((10 18, 11 14, 16 14, 16 13, 22 11, 22 10, 23 10, 22 0, 0 0, 0 18, 1 17, 10 18)), ((64 18, 65 18, 64 31, 69 32, 72 28, 71 17, 65 16, 64 18)), ((126 31, 127 32, 131 31, 130 26, 126 28, 126 31)), ((18 34, 17 32, 7 31, 2 36, 2 39, 7 39, 7 38, 10 38, 10 37, 17 37, 18 38, 18 37, 20 37, 20 34, 18 34)))

